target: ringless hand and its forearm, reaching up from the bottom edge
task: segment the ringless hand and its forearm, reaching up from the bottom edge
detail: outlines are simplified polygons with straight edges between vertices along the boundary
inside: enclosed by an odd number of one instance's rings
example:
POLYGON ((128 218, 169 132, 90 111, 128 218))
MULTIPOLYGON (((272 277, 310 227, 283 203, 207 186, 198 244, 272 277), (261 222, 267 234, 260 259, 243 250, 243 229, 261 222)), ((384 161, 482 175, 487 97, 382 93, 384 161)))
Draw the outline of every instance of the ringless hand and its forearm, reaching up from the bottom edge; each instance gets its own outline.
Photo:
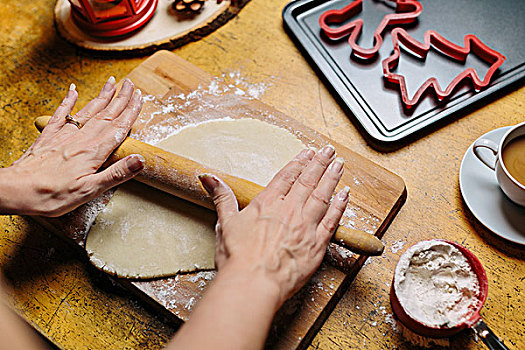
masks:
POLYGON ((231 189, 200 180, 219 217, 217 276, 167 349, 262 349, 282 303, 319 267, 348 203, 334 148, 302 151, 239 212, 231 189), (205 337, 202 335, 206 334, 205 337))

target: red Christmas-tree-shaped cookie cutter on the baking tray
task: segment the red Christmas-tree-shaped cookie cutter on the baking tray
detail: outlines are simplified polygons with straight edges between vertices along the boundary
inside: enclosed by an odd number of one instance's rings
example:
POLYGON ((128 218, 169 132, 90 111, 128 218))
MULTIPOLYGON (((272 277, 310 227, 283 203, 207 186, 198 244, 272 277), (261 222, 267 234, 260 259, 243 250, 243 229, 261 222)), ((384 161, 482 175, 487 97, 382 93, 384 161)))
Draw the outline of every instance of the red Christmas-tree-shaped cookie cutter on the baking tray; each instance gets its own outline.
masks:
POLYGON ((488 86, 492 75, 494 72, 503 64, 505 61, 505 56, 501 53, 492 50, 490 47, 485 45, 478 37, 473 34, 467 34, 463 38, 463 46, 456 45, 443 36, 438 34, 434 30, 429 30, 425 33, 424 42, 420 43, 413 37, 411 37, 406 30, 402 28, 395 28, 392 30, 392 44, 394 46, 394 52, 391 56, 383 60, 383 76, 390 82, 399 84, 401 90, 401 97, 403 103, 407 108, 411 108, 419 102, 421 96, 425 93, 428 88, 433 88, 437 98, 441 101, 445 97, 452 94, 457 85, 463 80, 470 78, 474 84, 476 91, 483 89, 488 86), (491 66, 485 78, 481 80, 474 68, 465 69, 463 72, 458 74, 452 82, 442 90, 439 86, 439 83, 436 78, 431 77, 427 79, 420 87, 417 89, 414 97, 412 99, 408 96, 407 86, 405 82, 405 77, 400 74, 392 73, 391 70, 397 67, 399 63, 399 58, 401 56, 401 48, 399 44, 403 44, 407 50, 411 51, 415 55, 425 58, 430 51, 431 46, 436 50, 439 50, 443 54, 452 57, 458 61, 464 62, 467 59, 467 56, 470 52, 474 52, 482 60, 489 63, 491 66))

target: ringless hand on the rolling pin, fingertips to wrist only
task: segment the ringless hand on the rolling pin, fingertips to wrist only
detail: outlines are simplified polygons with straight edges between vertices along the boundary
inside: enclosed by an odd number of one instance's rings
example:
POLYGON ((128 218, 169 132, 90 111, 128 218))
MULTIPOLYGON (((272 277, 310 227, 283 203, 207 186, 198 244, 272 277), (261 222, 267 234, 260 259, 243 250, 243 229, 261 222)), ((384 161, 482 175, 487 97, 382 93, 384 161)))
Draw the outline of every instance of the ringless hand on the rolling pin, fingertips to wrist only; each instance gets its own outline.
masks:
POLYGON ((240 211, 231 189, 213 175, 201 176, 218 214, 219 271, 270 282, 277 306, 319 267, 348 203, 346 187, 333 200, 343 159, 332 146, 302 151, 266 189, 240 211))

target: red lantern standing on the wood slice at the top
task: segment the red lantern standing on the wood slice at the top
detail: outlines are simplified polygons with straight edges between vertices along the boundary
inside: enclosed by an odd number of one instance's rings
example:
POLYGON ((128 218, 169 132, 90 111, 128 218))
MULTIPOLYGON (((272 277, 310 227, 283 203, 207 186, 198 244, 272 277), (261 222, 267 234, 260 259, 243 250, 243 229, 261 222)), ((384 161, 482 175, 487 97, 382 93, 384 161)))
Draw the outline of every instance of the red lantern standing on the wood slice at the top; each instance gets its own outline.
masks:
POLYGON ((158 0, 69 0, 75 23, 93 36, 115 37, 138 30, 151 19, 158 0))

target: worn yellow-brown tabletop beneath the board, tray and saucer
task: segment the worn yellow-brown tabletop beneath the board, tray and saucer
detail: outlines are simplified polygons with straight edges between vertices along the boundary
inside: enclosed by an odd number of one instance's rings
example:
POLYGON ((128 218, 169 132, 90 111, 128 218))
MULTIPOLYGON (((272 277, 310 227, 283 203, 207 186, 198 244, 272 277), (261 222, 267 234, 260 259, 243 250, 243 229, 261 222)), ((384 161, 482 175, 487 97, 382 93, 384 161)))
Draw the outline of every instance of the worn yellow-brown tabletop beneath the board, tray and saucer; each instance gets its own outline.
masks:
MULTIPOLYGON (((404 178, 408 200, 385 234, 385 254, 370 259, 314 339, 312 348, 410 348, 393 329, 388 299, 400 254, 417 241, 447 238, 483 263, 489 299, 483 317, 511 349, 525 348, 525 251, 481 226, 461 200, 459 164, 483 133, 525 120, 525 88, 512 92, 396 152, 370 148, 282 28, 284 0, 252 0, 239 16, 174 52, 214 75, 240 71, 271 83, 263 102, 319 130, 404 178), (399 249, 400 248, 400 249, 399 249)), ((0 166, 33 142, 33 118, 53 111, 70 83, 78 106, 109 75, 122 78, 143 58, 97 59, 62 40, 53 0, 2 1, 0 166)), ((30 219, 1 216, 0 262, 10 302, 36 329, 65 349, 156 349, 173 328, 114 286, 76 251, 30 219)), ((454 349, 482 349, 463 334, 454 349)))

